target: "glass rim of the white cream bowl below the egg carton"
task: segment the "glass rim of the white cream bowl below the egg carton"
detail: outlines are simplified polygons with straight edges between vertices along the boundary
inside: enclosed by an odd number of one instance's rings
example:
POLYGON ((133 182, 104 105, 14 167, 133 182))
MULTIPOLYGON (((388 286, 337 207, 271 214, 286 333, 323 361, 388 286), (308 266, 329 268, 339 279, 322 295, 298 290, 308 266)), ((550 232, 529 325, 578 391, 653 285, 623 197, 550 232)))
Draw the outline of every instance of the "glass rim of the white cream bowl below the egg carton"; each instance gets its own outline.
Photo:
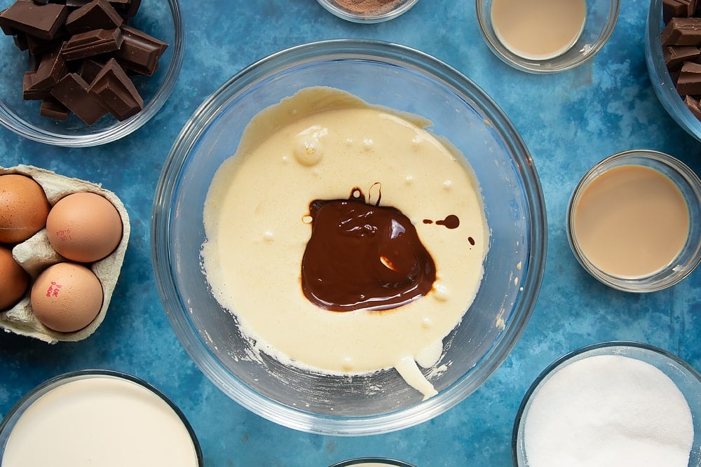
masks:
MULTIPOLYGON (((147 389, 149 392, 153 393, 154 395, 158 396, 163 402, 165 402, 170 409, 175 412, 177 417, 180 419, 182 422, 184 428, 186 429, 190 439, 192 440, 193 447, 195 449, 195 455, 197 457, 197 465, 200 467, 203 467, 204 464, 204 458, 202 454, 202 448, 200 447, 200 442, 197 438, 197 435, 192 428, 192 425, 190 424, 190 421, 185 417, 184 412, 180 407, 175 403, 174 400, 168 396, 168 394, 164 393, 161 391, 161 389, 158 389, 158 387, 154 386, 154 384, 151 384, 147 382, 145 379, 142 379, 140 377, 137 377, 135 375, 130 375, 127 372, 123 371, 118 371, 118 370, 103 370, 103 369, 86 369, 86 370, 74 370, 74 371, 69 371, 69 372, 64 372, 60 375, 56 375, 54 377, 50 377, 49 379, 46 379, 46 381, 41 382, 40 384, 34 386, 34 388, 30 389, 27 393, 25 393, 24 396, 20 398, 20 400, 11 407, 10 410, 8 410, 7 414, 5 417, 2 419, 0 422, 0 435, 5 431, 7 428, 8 424, 15 419, 15 415, 18 415, 18 417, 22 417, 22 414, 24 411, 29 408, 33 403, 36 402, 36 400, 43 396, 44 394, 53 391, 53 389, 56 389, 57 387, 62 386, 63 384, 67 384, 72 381, 77 381, 79 379, 93 379, 95 377, 111 377, 115 379, 123 379, 128 382, 135 383, 139 386, 142 386, 144 389, 147 389)), ((9 434, 9 433, 8 433, 9 434)), ((0 448, 4 449, 4 446, 0 446, 0 448)), ((0 461, 2 461, 2 456, 0 456, 0 461)))

